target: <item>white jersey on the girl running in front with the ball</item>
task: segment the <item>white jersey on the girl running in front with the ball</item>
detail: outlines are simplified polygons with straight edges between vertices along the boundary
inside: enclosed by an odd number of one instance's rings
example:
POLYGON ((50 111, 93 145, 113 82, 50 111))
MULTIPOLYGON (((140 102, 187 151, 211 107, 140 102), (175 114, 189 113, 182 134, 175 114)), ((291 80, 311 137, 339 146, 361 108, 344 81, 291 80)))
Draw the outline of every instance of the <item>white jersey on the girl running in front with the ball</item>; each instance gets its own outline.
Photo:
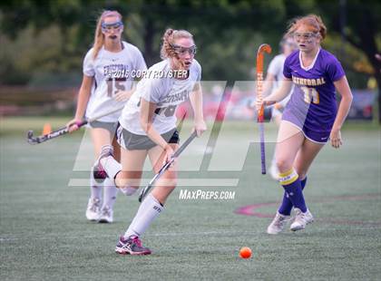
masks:
MULTIPOLYGON (((147 73, 170 73, 171 61, 164 60, 150 67, 147 73)), ((187 79, 179 80, 172 77, 143 78, 137 85, 136 91, 122 111, 119 122, 127 131, 134 134, 146 135, 140 122, 141 99, 157 104, 153 117, 153 128, 159 133, 171 131, 176 127, 176 107, 189 99, 196 82, 201 79, 201 66, 196 60, 190 65, 187 79)))

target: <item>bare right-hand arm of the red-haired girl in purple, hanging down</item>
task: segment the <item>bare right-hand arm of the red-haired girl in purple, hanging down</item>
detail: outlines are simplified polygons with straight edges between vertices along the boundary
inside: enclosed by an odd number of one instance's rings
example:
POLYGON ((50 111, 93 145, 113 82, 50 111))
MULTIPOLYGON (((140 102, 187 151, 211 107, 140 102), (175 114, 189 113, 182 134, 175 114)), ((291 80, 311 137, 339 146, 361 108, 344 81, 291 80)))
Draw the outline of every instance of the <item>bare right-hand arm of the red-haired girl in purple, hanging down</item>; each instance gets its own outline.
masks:
POLYGON ((336 82, 334 82, 337 92, 341 95, 340 105, 338 106, 337 116, 332 127, 330 134, 331 144, 334 148, 338 148, 342 144, 341 140, 341 127, 344 121, 346 121, 350 105, 352 104, 353 96, 350 91, 347 77, 343 76, 336 82))

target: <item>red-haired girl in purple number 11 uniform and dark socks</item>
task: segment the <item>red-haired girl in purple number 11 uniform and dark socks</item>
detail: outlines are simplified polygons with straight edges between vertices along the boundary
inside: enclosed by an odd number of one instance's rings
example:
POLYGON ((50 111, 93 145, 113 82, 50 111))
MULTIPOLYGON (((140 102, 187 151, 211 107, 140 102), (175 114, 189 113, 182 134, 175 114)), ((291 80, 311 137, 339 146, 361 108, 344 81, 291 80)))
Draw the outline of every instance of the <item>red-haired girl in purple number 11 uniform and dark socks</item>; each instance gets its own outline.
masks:
POLYGON ((337 58, 320 47, 326 33, 318 15, 294 21, 288 34, 294 36, 298 51, 285 61, 285 80, 276 92, 257 101, 258 107, 279 102, 295 85, 278 131, 276 159, 279 182, 285 192, 267 230, 269 234, 283 230, 293 207, 296 216, 291 230, 304 229, 313 221, 302 192, 308 168, 327 140, 334 148, 342 144, 340 130, 352 102, 352 92, 337 58), (336 90, 341 95, 338 109, 336 90))

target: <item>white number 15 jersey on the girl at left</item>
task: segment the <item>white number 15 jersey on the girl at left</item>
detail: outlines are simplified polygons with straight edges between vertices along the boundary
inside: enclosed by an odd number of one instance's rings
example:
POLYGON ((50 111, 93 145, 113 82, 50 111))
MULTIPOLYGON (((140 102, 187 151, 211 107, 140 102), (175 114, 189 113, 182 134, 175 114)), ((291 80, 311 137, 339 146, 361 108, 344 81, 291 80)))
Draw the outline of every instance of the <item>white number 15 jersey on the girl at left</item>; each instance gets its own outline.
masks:
POLYGON ((103 113, 121 108, 121 111, 104 116, 98 121, 117 121, 125 102, 116 102, 115 93, 132 89, 134 78, 132 71, 146 70, 142 53, 137 47, 122 42, 121 52, 112 53, 101 48, 95 60, 93 48, 83 60, 83 74, 94 78, 92 94, 87 103, 86 118, 93 118, 103 113))

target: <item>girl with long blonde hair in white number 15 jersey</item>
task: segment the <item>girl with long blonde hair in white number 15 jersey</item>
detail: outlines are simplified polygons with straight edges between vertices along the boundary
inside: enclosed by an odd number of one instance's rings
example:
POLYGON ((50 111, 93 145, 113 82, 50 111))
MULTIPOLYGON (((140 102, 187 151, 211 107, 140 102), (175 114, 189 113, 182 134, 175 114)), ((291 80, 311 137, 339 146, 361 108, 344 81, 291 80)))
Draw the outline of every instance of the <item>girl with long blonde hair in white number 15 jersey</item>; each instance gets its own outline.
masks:
MULTIPOLYGON (((132 44, 123 42, 122 15, 116 11, 104 11, 99 17, 95 31, 93 48, 83 61, 83 82, 78 94, 75 117, 68 122, 69 131, 78 130, 76 125, 83 117, 93 118, 106 115, 90 123, 95 158, 100 155, 103 145, 119 145, 113 140, 117 121, 125 101, 132 94, 132 72, 144 71, 147 66, 142 53, 132 44), (115 111, 117 109, 120 111, 115 111)), ((120 159, 120 149, 115 157, 120 159)), ((99 222, 112 222, 112 208, 117 190, 111 179, 103 183, 90 176, 91 197, 86 208, 86 218, 99 222), (102 202, 102 188, 103 202, 102 202)))

